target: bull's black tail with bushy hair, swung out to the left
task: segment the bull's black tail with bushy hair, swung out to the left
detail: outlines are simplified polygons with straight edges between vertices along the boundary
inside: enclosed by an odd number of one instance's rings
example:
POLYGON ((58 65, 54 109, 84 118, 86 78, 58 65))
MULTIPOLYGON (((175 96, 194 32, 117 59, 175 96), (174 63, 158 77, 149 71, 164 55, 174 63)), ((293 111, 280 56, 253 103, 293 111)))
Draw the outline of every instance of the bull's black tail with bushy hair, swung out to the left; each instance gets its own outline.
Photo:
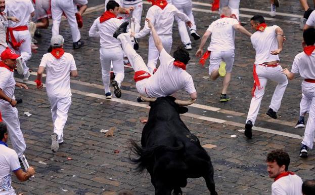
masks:
POLYGON ((184 148, 184 144, 181 143, 177 147, 169 147, 164 145, 159 146, 152 146, 148 148, 141 147, 136 141, 129 139, 129 149, 130 152, 136 154, 139 156, 139 158, 131 158, 129 154, 129 159, 133 164, 138 165, 136 168, 136 171, 138 173, 143 173, 148 165, 150 165, 150 162, 152 158, 154 158, 154 154, 159 151, 178 151, 182 150, 184 148))

